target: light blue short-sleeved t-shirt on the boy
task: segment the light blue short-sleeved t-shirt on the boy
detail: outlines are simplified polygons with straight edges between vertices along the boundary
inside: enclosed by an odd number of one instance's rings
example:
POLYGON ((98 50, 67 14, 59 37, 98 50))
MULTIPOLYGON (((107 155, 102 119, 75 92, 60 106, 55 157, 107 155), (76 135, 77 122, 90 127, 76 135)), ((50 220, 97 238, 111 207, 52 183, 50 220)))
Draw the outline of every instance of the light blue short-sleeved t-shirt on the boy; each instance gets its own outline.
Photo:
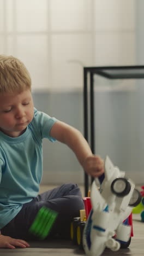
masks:
POLYGON ((38 195, 43 173, 42 139, 50 136, 56 118, 34 108, 26 131, 12 138, 0 131, 0 230, 38 195))

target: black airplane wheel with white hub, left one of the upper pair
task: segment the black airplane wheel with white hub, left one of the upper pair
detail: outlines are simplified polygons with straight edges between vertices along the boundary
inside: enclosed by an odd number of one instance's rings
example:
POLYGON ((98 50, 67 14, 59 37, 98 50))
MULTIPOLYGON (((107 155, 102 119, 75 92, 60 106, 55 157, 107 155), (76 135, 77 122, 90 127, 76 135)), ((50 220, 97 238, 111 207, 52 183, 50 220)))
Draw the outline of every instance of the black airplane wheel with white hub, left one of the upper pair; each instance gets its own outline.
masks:
POLYGON ((125 178, 116 178, 111 183, 111 191, 118 197, 123 197, 129 194, 131 189, 130 183, 125 178), (118 184, 119 183, 119 184, 118 184), (116 188, 119 186, 119 188, 116 188))

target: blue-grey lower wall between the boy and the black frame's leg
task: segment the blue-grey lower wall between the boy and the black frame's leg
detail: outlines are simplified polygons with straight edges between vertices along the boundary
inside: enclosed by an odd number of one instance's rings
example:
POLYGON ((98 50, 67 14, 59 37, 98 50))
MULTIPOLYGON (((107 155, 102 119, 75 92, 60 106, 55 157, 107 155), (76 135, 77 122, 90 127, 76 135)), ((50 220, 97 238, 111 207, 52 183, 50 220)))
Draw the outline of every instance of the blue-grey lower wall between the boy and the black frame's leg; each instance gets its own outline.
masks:
MULTIPOLYGON (((35 107, 56 117, 83 132, 83 110, 81 92, 51 94, 33 93, 35 107)), ((83 183, 83 171, 74 153, 60 142, 44 139, 43 184, 78 182, 83 183)))

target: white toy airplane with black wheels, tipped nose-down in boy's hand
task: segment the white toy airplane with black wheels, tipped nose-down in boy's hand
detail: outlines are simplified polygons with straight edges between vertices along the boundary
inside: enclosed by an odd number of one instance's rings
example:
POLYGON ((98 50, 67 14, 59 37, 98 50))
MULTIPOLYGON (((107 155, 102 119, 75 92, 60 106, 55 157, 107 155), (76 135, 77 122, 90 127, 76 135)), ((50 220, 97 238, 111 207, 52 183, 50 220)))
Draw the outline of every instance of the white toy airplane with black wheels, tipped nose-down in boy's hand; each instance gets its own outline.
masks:
POLYGON ((125 172, 113 166, 107 156, 100 190, 95 181, 92 183, 92 210, 83 230, 83 248, 88 256, 99 256, 106 247, 118 251, 121 243, 129 241, 131 226, 123 221, 140 201, 134 182, 125 178, 125 172))

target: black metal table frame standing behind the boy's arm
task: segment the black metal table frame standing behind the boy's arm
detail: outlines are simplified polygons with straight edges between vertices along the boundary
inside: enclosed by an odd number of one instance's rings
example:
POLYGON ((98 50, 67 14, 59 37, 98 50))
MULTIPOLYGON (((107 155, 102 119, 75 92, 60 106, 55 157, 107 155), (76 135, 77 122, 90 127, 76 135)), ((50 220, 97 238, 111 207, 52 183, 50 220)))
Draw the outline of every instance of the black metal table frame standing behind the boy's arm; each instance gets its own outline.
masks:
MULTIPOLYGON (((84 67, 83 68, 83 110, 84 110, 84 136, 88 138, 88 114, 90 114, 90 147, 95 154, 94 138, 94 75, 100 75, 108 79, 139 79, 144 78, 144 66, 105 66, 105 67, 84 67), (88 112, 88 77, 90 80, 89 112, 88 112)), ((93 180, 93 179, 92 179, 93 180)), ((88 175, 85 173, 85 196, 88 194, 88 175)))

